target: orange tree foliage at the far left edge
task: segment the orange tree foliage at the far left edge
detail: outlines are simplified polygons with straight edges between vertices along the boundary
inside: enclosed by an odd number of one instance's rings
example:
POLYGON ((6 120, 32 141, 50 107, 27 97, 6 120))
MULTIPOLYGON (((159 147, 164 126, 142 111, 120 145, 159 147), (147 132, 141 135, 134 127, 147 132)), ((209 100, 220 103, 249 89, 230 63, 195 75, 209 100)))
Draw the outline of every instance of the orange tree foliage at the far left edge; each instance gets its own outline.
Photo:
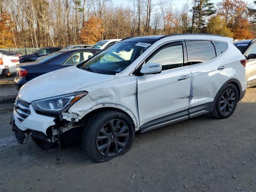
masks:
POLYGON ((0 16, 0 48, 14 46, 12 34, 13 22, 7 12, 2 12, 0 16))

